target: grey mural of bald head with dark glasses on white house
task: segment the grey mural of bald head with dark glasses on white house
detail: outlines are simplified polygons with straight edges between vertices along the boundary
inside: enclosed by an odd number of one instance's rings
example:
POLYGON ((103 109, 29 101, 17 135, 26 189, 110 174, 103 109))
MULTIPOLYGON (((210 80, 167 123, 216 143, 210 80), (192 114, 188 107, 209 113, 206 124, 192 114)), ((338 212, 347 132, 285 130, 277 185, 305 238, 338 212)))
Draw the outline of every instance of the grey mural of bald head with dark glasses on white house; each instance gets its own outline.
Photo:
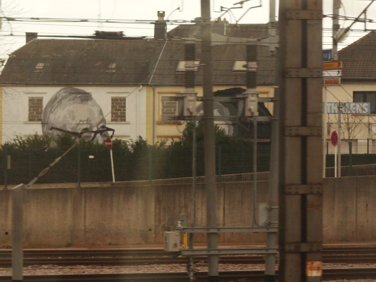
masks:
MULTIPOLYGON (((56 92, 42 111, 42 133, 49 136, 59 134, 59 131, 51 130, 51 127, 72 132, 98 130, 106 127, 106 119, 102 108, 90 93, 66 87, 56 92)), ((102 136, 97 134, 94 140, 102 143, 107 136, 107 132, 102 136)), ((92 137, 93 134, 83 135, 87 140, 92 137)))

